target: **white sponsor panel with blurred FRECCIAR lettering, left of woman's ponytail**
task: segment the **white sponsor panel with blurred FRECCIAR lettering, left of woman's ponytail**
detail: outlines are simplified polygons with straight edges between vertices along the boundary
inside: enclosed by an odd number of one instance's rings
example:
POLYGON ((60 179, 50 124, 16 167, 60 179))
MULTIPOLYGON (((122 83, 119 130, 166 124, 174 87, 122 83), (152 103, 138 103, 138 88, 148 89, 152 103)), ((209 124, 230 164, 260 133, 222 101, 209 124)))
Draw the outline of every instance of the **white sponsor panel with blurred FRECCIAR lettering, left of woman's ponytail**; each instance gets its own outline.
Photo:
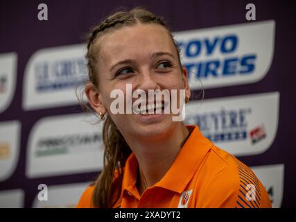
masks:
POLYGON ((37 121, 28 137, 26 176, 100 171, 102 123, 91 124, 92 118, 92 115, 67 114, 37 121))

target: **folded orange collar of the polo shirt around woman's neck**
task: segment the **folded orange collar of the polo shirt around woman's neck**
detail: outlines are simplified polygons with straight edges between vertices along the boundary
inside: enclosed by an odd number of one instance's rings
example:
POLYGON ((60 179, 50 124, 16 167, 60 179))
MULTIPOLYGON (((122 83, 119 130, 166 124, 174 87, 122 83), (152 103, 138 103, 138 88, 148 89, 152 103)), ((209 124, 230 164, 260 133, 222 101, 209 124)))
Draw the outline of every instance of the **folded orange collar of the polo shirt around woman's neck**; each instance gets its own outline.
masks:
MULTIPOLYGON (((200 133, 198 126, 189 125, 186 127, 191 130, 191 134, 177 154, 170 169, 168 169, 164 177, 154 185, 155 187, 163 187, 181 194, 191 178, 193 178, 204 156, 211 146, 213 146, 209 139, 200 133)), ((137 158, 131 153, 125 163, 121 196, 123 195, 123 191, 127 190, 135 197, 139 198, 139 193, 136 188, 137 171, 137 158)))

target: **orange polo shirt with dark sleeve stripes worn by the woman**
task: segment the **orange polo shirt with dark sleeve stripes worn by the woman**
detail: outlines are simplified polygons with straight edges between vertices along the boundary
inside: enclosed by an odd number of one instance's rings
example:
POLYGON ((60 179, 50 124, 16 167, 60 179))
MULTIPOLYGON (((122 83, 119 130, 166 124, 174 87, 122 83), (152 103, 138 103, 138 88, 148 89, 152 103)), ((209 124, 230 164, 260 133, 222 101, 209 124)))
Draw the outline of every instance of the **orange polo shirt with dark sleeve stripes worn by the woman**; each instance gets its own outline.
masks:
MULTIPOLYGON (((198 126, 164 177, 140 196, 136 187, 138 162, 133 153, 125 164, 121 196, 115 207, 271 207, 268 194, 252 170, 204 137, 198 126)), ((94 186, 77 207, 92 207, 94 186)))

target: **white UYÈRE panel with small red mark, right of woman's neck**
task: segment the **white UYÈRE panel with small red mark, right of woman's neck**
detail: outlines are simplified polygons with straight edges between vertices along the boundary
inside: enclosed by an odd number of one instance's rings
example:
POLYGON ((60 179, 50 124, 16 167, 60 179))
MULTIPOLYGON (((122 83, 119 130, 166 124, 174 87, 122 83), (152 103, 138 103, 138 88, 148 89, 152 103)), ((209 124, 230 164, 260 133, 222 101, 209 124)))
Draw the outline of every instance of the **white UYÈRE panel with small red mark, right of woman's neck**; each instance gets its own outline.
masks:
POLYGON ((197 124, 202 134, 233 155, 266 151, 275 139, 279 93, 191 101, 186 123, 197 124))

